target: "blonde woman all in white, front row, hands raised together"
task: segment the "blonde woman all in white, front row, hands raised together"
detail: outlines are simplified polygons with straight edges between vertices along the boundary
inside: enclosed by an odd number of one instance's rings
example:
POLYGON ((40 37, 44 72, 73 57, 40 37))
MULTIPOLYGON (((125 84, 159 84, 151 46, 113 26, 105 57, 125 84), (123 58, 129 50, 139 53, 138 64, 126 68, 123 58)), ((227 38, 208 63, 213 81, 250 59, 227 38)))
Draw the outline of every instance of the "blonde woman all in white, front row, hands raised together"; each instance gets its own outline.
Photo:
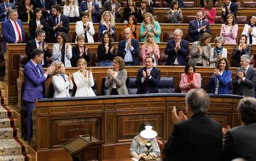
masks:
POLYGON ((91 69, 87 70, 87 61, 80 58, 77 60, 77 67, 79 67, 79 71, 73 74, 75 85, 77 86, 75 97, 96 96, 92 89, 92 86, 94 86, 93 75, 91 69))

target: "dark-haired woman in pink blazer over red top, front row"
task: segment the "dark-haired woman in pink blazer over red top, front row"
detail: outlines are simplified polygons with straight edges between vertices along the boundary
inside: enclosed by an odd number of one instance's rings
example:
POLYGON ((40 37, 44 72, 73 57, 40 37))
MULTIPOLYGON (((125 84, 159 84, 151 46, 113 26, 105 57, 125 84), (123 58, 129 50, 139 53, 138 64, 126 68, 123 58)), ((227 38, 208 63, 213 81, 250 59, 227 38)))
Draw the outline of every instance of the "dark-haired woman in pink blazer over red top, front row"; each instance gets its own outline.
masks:
POLYGON ((195 73, 194 65, 187 64, 184 72, 181 74, 181 81, 179 82, 182 93, 187 93, 192 88, 201 88, 201 75, 195 73))

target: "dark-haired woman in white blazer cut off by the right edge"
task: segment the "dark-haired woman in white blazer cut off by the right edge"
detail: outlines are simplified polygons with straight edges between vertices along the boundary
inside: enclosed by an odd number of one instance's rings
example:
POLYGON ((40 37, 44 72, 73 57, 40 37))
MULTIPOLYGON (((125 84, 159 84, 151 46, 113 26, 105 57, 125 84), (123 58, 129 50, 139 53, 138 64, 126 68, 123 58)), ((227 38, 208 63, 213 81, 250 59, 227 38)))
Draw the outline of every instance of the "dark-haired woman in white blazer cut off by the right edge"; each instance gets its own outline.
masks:
POLYGON ((250 17, 250 22, 244 26, 242 35, 247 35, 247 44, 256 44, 256 15, 250 17))

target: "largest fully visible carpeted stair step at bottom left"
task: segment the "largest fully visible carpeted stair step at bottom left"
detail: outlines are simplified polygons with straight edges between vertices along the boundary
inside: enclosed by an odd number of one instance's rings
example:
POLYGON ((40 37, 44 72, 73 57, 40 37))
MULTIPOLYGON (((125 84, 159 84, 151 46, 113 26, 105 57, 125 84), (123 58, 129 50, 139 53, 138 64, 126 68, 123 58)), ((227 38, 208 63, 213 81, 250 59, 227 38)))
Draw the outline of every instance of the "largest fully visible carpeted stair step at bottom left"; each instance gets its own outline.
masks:
POLYGON ((0 139, 0 155, 26 154, 28 146, 20 139, 0 139))

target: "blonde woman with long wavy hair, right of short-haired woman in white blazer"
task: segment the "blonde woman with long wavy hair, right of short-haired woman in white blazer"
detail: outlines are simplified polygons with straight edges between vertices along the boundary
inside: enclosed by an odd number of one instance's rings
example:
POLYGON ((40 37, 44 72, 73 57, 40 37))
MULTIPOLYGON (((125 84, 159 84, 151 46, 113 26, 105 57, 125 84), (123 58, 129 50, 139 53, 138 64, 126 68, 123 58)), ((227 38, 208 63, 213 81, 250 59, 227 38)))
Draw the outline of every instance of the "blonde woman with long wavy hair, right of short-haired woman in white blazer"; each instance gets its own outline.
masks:
POLYGON ((108 31, 111 35, 111 39, 114 42, 114 32, 115 32, 115 21, 113 18, 113 15, 111 12, 106 10, 103 12, 101 16, 101 22, 99 23, 99 35, 100 35, 100 41, 102 41, 103 33, 108 31))

